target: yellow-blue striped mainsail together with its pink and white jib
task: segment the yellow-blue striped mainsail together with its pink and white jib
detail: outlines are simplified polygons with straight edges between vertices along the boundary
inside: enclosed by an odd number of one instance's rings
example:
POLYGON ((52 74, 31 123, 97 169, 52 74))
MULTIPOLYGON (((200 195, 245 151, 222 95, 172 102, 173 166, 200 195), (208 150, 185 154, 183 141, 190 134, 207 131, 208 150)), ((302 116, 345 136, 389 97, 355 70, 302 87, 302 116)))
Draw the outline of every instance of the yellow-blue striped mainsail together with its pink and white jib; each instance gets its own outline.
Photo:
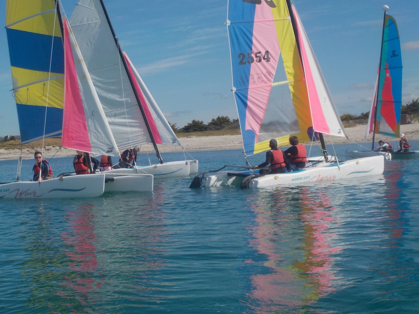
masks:
POLYGON ((22 144, 62 131, 63 147, 119 156, 59 1, 8 0, 6 15, 22 144))

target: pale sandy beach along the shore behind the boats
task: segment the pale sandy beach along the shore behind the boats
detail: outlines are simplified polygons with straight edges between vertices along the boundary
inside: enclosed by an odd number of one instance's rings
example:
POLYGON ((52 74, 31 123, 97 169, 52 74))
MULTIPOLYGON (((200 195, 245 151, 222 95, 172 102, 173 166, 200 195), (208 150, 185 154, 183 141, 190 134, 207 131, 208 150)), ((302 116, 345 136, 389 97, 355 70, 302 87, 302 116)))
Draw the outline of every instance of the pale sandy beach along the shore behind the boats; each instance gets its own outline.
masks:
MULTIPOLYGON (((344 137, 332 136, 331 142, 334 144, 345 143, 345 142, 356 142, 365 143, 372 142, 372 135, 365 139, 365 125, 358 125, 351 128, 346 128, 349 141, 344 137)), ((419 139, 419 123, 406 124, 400 126, 401 133, 406 135, 406 139, 419 139)), ((326 136, 326 143, 330 142, 330 137, 326 136)), ((398 139, 389 136, 376 136, 376 141, 383 139, 389 141, 394 147, 398 147, 398 139)), ((197 150, 220 150, 220 149, 241 149, 243 148, 241 142, 241 135, 224 135, 224 136, 191 136, 182 137, 179 139, 183 145, 183 148, 187 152, 193 152, 197 150)), ((72 149, 59 149, 56 146, 48 146, 44 148, 44 158, 49 159, 54 154, 54 157, 67 157, 74 156, 75 150, 72 149)), ((39 150, 40 147, 39 147, 39 150)), ((160 152, 178 152, 182 151, 182 147, 178 146, 164 146, 159 145, 160 152)), ((34 149, 24 149, 22 152, 23 159, 32 159, 34 157, 34 149)), ((150 144, 143 145, 141 152, 153 152, 153 146, 150 144)), ((20 149, 0 149, 0 160, 5 159, 18 159, 21 155, 20 149)))

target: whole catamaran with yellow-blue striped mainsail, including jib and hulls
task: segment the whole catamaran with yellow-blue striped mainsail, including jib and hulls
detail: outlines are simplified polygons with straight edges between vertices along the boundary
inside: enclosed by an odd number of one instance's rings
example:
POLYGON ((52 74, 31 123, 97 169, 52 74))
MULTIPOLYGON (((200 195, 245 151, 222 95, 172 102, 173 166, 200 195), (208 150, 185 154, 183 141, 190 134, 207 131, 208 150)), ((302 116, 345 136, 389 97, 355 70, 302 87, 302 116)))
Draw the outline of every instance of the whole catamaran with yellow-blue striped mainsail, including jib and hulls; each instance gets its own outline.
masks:
MULTIPOLYGON (((21 143, 62 134, 63 147, 118 156, 59 0, 35 0, 31 5, 24 0, 8 0, 6 32, 21 143)), ((21 158, 16 182, 1 184, 0 198, 94 197, 126 188, 132 181, 142 187, 140 190, 153 189, 152 175, 114 179, 90 174, 23 182, 20 166, 21 158)))

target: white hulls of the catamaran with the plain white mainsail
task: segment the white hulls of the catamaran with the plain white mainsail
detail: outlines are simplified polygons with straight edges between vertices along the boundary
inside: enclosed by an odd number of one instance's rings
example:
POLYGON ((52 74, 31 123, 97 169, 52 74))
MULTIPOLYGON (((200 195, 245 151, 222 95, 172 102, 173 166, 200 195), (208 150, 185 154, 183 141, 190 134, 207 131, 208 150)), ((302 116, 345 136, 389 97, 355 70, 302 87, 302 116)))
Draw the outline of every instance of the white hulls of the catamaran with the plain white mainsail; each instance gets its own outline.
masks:
POLYGON ((156 164, 150 166, 137 166, 134 168, 120 168, 108 170, 105 173, 111 174, 144 174, 149 173, 154 175, 156 179, 160 178, 178 178, 187 177, 198 172, 198 160, 184 160, 164 162, 163 164, 156 164), (192 165, 192 167, 191 167, 192 165))

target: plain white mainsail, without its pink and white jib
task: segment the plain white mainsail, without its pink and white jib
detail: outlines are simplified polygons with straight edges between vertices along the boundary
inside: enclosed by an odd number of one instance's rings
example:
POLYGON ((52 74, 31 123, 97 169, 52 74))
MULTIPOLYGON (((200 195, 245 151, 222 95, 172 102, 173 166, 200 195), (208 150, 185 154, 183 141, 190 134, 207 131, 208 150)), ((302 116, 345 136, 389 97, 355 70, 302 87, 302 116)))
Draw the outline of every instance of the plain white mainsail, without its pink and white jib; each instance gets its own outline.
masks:
POLYGON ((80 0, 70 25, 119 149, 151 141, 100 1, 80 0))

